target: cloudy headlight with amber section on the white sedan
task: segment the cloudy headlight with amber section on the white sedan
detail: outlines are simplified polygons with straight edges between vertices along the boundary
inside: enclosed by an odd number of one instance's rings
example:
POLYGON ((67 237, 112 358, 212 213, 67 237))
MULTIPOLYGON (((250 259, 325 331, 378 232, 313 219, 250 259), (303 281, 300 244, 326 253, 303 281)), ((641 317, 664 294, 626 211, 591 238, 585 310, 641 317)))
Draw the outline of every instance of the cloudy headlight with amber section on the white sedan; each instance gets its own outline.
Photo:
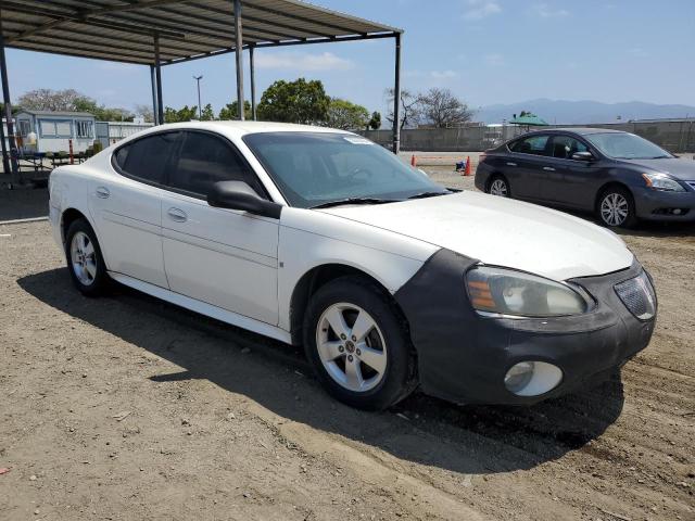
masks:
POLYGON ((469 270, 466 284, 473 308, 483 313, 558 317, 585 313, 593 303, 581 288, 491 266, 469 270))

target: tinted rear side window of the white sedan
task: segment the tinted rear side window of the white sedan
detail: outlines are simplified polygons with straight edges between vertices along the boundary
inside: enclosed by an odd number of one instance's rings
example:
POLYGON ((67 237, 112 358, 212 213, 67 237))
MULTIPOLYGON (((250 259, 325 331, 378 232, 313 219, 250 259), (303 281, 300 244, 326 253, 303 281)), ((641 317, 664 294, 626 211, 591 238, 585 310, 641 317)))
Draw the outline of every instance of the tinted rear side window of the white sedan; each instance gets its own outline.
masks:
POLYGON ((114 157, 116 165, 129 176, 162 185, 177 137, 178 132, 155 134, 121 147, 114 157))

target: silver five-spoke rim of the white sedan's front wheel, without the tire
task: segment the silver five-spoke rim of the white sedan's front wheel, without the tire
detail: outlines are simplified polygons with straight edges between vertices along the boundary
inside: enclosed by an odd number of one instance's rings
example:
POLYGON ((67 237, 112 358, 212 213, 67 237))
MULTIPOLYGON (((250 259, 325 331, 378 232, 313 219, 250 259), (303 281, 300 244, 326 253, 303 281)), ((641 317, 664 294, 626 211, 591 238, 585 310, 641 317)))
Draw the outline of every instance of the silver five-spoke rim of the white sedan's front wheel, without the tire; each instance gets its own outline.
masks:
POLYGON ((369 391, 386 376, 383 334, 359 306, 341 302, 328 307, 318 319, 316 347, 328 374, 349 391, 369 391))

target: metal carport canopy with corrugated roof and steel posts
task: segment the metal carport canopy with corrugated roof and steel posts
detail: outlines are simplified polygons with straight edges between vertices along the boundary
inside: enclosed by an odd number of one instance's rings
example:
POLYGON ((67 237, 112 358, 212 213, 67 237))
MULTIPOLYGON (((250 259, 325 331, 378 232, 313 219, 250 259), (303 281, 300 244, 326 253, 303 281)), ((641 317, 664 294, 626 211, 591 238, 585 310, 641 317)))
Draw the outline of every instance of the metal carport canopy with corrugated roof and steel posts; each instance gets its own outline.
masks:
MULTIPOLYGON (((8 111, 5 47, 149 65, 157 123, 163 120, 162 65, 229 52, 237 55, 237 99, 243 119, 243 67, 237 52, 243 49, 250 52, 254 117, 253 51, 258 48, 394 38, 394 90, 400 94, 402 29, 299 0, 0 0, 0 72, 8 111)), ((399 99, 394 97, 394 151, 400 141, 399 99)), ((8 130, 13 149, 13 129, 8 130)))

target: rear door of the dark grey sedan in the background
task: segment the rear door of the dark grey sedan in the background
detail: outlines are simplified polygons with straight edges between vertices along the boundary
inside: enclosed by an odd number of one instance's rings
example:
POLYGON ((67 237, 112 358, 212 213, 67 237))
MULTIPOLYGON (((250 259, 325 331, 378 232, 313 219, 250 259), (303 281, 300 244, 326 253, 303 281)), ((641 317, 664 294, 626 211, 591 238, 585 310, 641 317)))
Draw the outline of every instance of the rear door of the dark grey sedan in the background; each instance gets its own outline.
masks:
POLYGON ((505 174, 511 189, 511 196, 519 199, 541 199, 539 188, 545 175, 544 168, 551 164, 548 153, 549 136, 534 134, 511 143, 511 155, 506 161, 505 174))

